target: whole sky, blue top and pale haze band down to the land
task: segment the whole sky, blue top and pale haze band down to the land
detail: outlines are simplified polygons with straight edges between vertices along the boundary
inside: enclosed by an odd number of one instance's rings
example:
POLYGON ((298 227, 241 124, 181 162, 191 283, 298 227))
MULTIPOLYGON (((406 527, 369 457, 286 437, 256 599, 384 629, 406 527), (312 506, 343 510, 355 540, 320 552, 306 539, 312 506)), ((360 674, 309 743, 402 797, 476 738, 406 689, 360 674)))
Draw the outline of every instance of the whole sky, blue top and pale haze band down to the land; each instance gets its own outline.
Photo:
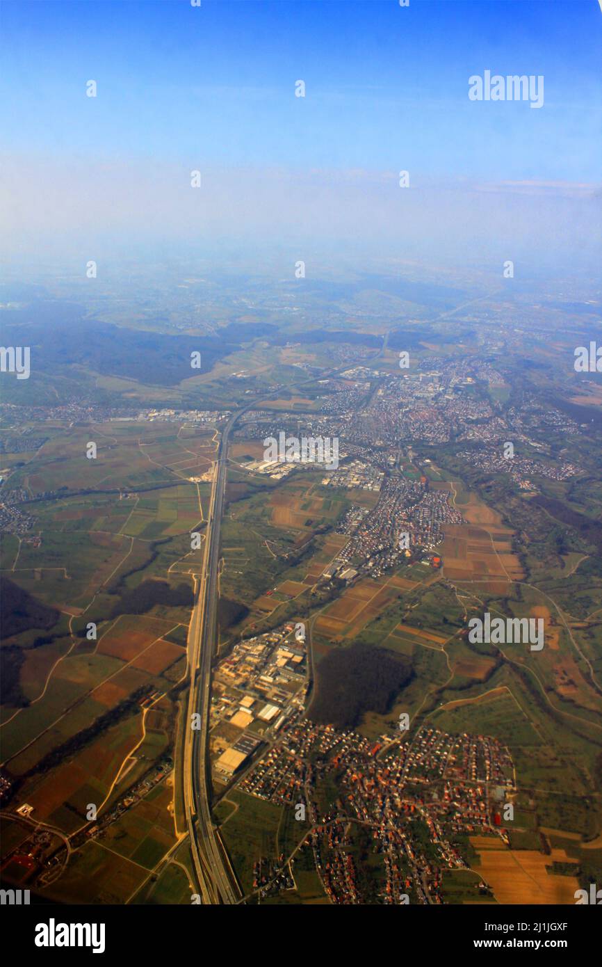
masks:
POLYGON ((281 253, 314 277, 343 249, 516 277, 600 261, 596 0, 9 0, 2 18, 10 277, 136 252, 281 253), (543 103, 472 102, 487 70, 543 77, 543 103))

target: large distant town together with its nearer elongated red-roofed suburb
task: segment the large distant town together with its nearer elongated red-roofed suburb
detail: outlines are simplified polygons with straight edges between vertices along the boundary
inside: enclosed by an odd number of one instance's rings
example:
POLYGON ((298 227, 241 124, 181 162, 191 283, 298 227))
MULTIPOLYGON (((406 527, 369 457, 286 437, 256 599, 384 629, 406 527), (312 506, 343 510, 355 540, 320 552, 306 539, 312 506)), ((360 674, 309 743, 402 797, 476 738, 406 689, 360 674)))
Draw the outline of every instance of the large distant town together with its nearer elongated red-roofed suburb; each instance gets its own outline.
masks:
MULTIPOLYGON (((424 477, 413 479, 396 472, 400 447, 413 441, 425 446, 477 442, 485 449, 461 450, 456 455, 488 472, 507 473, 523 490, 533 491, 533 478, 565 481, 580 473, 567 460, 526 456, 506 459, 502 443, 530 443, 542 454, 549 451, 551 430, 578 429, 574 421, 554 407, 529 394, 520 407, 501 410, 482 391, 502 388, 502 372, 489 362, 473 357, 431 357, 400 369, 399 374, 374 366, 354 366, 335 379, 324 380, 325 395, 317 414, 280 414, 279 426, 292 433, 322 434, 341 440, 347 459, 325 474, 323 485, 376 491, 374 509, 354 506, 345 513, 338 531, 350 538, 334 567, 355 569, 379 577, 401 559, 416 552, 432 554, 444 540, 445 524, 463 522, 444 488, 432 486, 424 477), (538 442, 539 441, 539 442, 538 442), (410 546, 399 543, 410 535, 410 546)), ((273 435, 273 415, 249 413, 249 426, 273 435)), ((296 464, 248 464, 249 469, 280 478, 292 473, 296 464)), ((327 575, 329 576, 329 575, 327 575)))

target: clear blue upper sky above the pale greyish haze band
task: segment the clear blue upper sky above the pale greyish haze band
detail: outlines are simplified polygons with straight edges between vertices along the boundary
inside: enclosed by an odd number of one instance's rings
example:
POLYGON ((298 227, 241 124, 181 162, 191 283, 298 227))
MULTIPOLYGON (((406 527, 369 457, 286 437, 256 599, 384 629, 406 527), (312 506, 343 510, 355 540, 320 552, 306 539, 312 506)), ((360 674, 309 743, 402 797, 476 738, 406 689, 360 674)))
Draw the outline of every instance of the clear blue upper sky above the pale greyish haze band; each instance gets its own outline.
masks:
POLYGON ((136 167, 159 191, 197 167, 322 172, 323 189, 337 172, 374 183, 401 168, 415 187, 600 180, 597 0, 4 0, 2 50, 9 177, 51 172, 59 227, 60 192, 77 210, 100 168, 116 198, 136 167), (486 69, 543 74, 544 106, 470 102, 486 69))

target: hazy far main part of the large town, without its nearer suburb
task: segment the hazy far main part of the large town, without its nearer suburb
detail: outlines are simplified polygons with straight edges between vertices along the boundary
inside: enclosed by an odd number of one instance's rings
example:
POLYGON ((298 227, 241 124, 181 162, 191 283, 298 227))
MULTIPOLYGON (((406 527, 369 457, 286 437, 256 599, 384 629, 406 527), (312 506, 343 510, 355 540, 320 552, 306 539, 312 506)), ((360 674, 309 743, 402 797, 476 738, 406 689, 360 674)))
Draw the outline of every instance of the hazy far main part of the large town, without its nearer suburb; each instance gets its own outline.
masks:
MULTIPOLYGON (((263 438, 286 425, 298 435, 336 437, 347 454, 386 469, 400 444, 411 441, 425 446, 454 441, 492 445, 504 440, 536 445, 538 438, 545 446, 550 431, 578 429, 570 417, 529 394, 520 407, 502 412, 478 389, 483 383, 488 389, 503 388, 502 373, 473 357, 431 357, 398 374, 355 366, 321 382, 325 394, 319 413, 282 413, 275 426, 273 414, 256 411, 248 414, 237 435, 250 430, 250 435, 263 438)), ((332 478, 328 483, 337 485, 332 478)), ((347 484, 342 480, 341 485, 347 484)))

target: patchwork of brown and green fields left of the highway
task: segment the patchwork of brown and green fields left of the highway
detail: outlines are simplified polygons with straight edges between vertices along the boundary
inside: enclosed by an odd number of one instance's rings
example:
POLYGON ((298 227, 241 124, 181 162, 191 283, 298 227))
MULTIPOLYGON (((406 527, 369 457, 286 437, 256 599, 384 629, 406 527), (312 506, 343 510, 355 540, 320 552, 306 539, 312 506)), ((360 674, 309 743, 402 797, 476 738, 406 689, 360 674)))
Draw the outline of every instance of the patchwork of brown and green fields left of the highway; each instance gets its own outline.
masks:
MULTIPOLYGON (((85 826, 90 804, 102 815, 173 745, 168 696, 186 672, 190 572, 202 554, 202 545, 190 550, 189 534, 204 526, 211 488, 188 477, 211 468, 214 436, 180 425, 73 426, 55 432, 15 477, 36 498, 29 506, 38 540, 10 539, 4 573, 56 618, 3 642, 16 657, 2 709, 3 769, 19 800, 65 834, 85 826), (90 440, 96 461, 85 456, 90 440)), ((172 799, 168 790, 161 823, 131 859, 118 846, 123 859, 108 868, 106 844, 87 842, 74 863, 83 872, 70 866, 61 897, 77 896, 81 876, 90 876, 82 895, 98 890, 99 902, 125 902, 139 866, 150 868, 175 841, 172 799)))

